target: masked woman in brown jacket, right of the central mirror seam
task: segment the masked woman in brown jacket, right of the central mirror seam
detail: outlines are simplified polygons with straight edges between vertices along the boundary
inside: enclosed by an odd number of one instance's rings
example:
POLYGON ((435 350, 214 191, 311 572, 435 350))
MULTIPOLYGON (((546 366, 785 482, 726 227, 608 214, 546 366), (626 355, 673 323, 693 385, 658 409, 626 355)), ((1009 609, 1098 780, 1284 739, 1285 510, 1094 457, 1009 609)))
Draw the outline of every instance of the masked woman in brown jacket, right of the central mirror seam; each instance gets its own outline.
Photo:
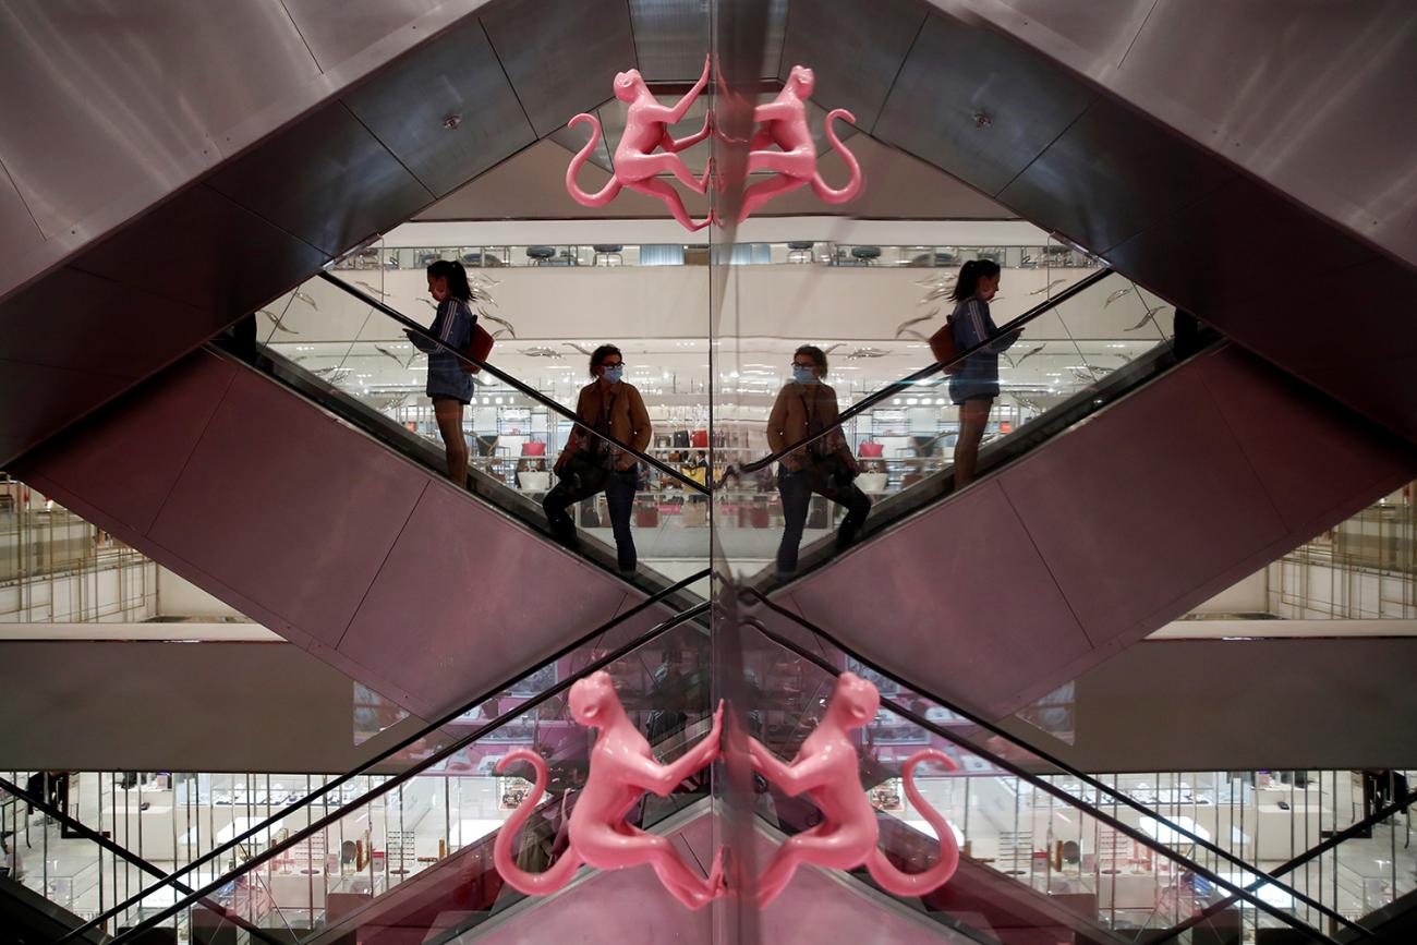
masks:
POLYGON ((812 493, 846 507, 836 534, 837 547, 856 540, 870 511, 871 500, 852 480, 859 472, 846 438, 836 424, 836 391, 822 383, 826 353, 803 344, 792 356, 792 381, 786 384, 768 415, 768 446, 779 452, 792 443, 832 431, 822 439, 785 455, 778 462, 778 494, 782 497, 782 544, 778 545, 778 577, 796 572, 798 547, 806 526, 812 493))

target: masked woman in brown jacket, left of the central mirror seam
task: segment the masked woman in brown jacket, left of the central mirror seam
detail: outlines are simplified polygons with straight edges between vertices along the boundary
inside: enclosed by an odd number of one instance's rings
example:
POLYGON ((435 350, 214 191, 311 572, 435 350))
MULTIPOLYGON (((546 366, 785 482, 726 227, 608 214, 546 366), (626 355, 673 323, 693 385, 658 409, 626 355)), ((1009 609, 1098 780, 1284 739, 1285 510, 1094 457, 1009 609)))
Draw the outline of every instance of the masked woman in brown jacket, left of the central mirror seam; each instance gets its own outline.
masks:
POLYGON ((602 344, 591 353, 591 377, 595 380, 581 388, 581 398, 575 405, 580 424, 571 431, 565 449, 555 460, 553 470, 560 482, 541 500, 541 507, 546 509, 551 534, 563 544, 575 547, 575 523, 565 510, 604 492, 619 570, 629 574, 636 564, 629 517, 635 510, 639 460, 633 453, 611 446, 604 438, 611 436, 643 452, 649 446, 650 428, 645 401, 633 384, 625 383, 623 375, 625 358, 618 347, 602 344))

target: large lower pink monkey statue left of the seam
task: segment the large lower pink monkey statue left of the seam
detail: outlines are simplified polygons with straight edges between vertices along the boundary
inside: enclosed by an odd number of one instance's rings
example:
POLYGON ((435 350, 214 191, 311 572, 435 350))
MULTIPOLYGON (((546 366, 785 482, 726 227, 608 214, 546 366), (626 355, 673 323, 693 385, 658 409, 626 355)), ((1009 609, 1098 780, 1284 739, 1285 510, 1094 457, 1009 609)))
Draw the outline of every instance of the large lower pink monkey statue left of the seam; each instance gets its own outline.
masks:
POLYGON ((714 713, 708 735, 667 765, 655 759, 649 742, 625 714, 609 673, 591 673, 571 686, 571 715, 587 728, 598 730, 598 735, 591 749, 589 775, 571 810, 570 847, 544 873, 526 873, 513 861, 512 843, 546 793, 547 769, 536 752, 510 751, 497 762, 497 774, 513 762, 526 761, 536 769, 536 785, 493 843, 492 859, 502 878, 529 895, 547 895, 570 883, 582 863, 598 870, 648 863, 665 888, 691 910, 723 895, 723 850, 714 857, 708 878, 703 878, 679 857, 667 837, 625 822, 625 815, 646 791, 667 796, 684 778, 713 764, 718 757, 723 704, 714 713))

